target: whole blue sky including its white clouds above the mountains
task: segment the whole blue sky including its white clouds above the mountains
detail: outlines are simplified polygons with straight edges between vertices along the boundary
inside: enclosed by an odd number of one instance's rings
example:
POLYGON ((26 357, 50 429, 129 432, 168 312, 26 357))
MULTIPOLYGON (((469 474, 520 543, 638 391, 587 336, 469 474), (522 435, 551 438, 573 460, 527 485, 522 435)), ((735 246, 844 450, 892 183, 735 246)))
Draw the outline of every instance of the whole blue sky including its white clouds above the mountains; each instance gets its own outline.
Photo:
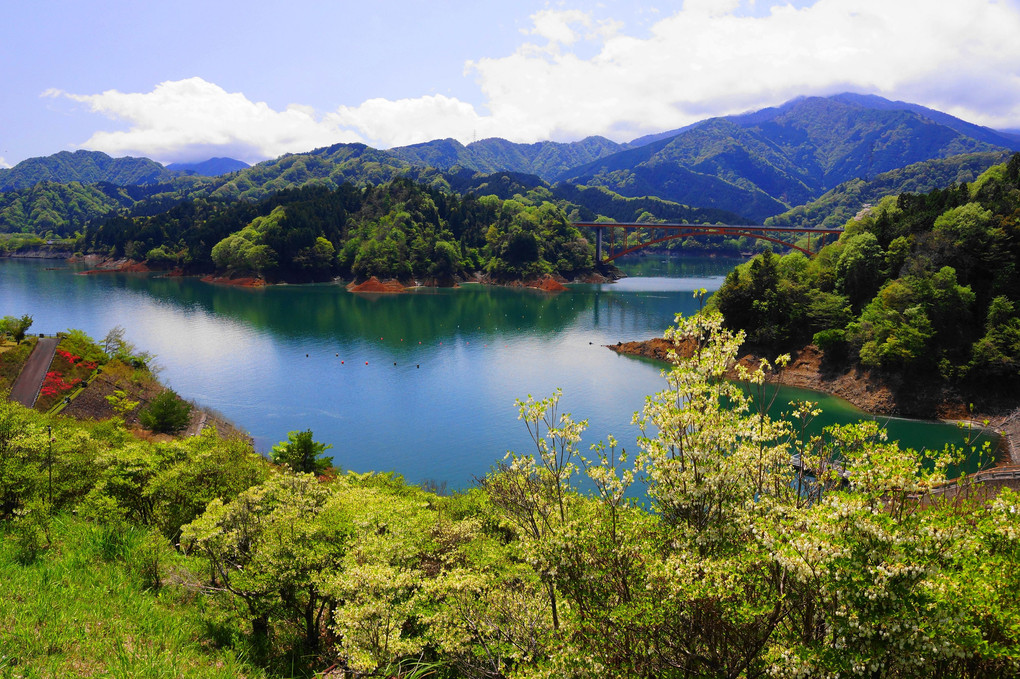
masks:
POLYGON ((2 25, 0 166, 629 141, 845 91, 1020 128, 1020 0, 38 0, 2 25))

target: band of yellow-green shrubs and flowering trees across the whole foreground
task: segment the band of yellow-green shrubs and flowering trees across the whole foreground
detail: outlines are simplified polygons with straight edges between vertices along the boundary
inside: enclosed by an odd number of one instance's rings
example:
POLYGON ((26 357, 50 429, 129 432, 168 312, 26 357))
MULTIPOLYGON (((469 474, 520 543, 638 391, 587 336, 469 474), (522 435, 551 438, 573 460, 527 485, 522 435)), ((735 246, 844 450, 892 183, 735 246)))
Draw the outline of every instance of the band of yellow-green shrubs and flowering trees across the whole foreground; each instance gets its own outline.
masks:
MULTIPOLYGON (((181 554, 148 561, 147 581, 187 568, 186 588, 244 621, 274 672, 293 651, 348 676, 1020 674, 1020 497, 930 493, 959 456, 902 451, 873 423, 809 438, 810 404, 771 419, 722 378, 743 337, 718 315, 667 336, 685 358, 629 452, 610 436, 582 456, 586 423, 559 395, 529 398, 532 454, 449 498, 5 403, 5 554, 47 563, 71 510, 111 534, 158 531, 181 554)), ((765 374, 744 378, 767 390, 765 374)))

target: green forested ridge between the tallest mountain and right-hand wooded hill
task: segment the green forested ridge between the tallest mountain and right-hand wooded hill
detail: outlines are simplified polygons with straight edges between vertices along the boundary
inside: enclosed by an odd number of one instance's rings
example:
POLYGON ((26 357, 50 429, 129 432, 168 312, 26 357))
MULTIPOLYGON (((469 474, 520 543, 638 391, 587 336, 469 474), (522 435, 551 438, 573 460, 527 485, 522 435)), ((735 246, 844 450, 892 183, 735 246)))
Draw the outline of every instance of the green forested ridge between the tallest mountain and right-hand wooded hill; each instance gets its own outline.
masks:
POLYGON ((938 160, 926 160, 882 172, 873 179, 851 179, 818 200, 765 220, 784 226, 843 226, 866 206, 885 196, 926 194, 954 184, 973 181, 992 165, 1009 160, 1009 152, 968 153, 938 160))

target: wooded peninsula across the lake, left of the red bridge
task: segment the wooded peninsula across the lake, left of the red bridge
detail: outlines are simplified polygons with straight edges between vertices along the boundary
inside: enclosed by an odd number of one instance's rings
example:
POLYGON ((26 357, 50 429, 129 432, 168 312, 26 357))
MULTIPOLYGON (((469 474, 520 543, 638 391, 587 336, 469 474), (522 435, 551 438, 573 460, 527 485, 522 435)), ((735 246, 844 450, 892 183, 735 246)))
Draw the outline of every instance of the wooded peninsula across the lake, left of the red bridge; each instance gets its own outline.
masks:
POLYGON ((499 281, 595 270, 592 245, 554 203, 461 197, 407 178, 309 186, 255 203, 189 200, 152 216, 107 219, 80 243, 112 258, 270 280, 486 273, 499 281))

